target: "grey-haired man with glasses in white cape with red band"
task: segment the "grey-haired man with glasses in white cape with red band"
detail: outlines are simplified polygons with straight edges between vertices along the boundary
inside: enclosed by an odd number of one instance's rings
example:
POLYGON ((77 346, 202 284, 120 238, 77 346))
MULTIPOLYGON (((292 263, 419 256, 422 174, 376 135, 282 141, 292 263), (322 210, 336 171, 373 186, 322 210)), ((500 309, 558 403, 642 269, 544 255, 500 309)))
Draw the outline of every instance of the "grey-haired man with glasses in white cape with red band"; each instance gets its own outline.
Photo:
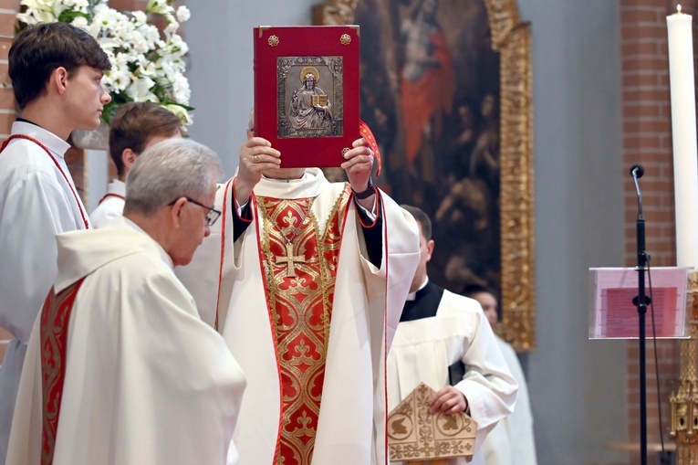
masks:
POLYGON ((220 174, 199 143, 155 144, 131 168, 123 217, 57 236, 7 463, 236 462, 245 378, 173 272, 220 215, 220 174))

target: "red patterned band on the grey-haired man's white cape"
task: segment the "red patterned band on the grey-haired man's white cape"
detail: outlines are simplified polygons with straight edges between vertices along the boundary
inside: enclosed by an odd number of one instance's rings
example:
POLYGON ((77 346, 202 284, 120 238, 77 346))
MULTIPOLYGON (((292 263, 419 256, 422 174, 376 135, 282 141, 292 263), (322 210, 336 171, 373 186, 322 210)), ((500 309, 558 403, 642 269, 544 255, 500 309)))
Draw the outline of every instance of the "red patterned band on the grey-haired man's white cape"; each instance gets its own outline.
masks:
POLYGON ((66 376, 68 324, 73 303, 85 278, 56 294, 51 287, 41 310, 41 465, 53 463, 63 383, 66 376))

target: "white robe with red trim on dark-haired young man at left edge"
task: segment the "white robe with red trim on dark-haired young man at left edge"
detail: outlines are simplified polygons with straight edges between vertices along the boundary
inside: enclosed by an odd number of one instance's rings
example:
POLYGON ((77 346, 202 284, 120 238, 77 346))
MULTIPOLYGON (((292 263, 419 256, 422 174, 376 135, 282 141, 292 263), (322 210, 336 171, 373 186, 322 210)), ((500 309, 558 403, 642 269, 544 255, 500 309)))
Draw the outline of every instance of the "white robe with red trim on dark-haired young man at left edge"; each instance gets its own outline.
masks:
POLYGON ((53 159, 25 139, 13 139, 0 153, 0 326, 14 338, 0 369, 0 464, 5 463, 26 343, 56 278, 55 236, 84 229, 87 220, 63 158, 70 145, 28 122, 15 122, 12 134, 36 139, 53 159))

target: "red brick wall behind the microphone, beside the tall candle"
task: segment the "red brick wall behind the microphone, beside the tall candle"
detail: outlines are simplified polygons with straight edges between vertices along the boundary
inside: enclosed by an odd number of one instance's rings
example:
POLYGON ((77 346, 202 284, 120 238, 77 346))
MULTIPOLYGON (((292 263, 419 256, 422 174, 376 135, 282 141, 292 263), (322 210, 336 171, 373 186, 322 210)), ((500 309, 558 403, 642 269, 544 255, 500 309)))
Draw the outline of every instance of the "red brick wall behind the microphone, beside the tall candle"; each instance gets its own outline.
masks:
MULTIPOLYGON (((635 186, 630 166, 645 168, 641 179, 643 214, 646 222, 646 250, 651 266, 675 266, 675 230, 673 207, 672 124, 669 90, 669 60, 666 16, 676 11, 672 0, 620 0, 621 67, 623 88, 623 173, 625 179, 625 261, 637 265, 636 219, 638 216, 635 186)), ((681 2, 684 12, 693 15, 693 40, 696 37, 696 0, 681 2)), ((650 321, 650 313, 647 314, 650 321)), ((648 334, 650 336, 651 334, 648 334)), ((663 433, 671 443, 669 396, 676 388, 679 373, 679 343, 657 343, 660 369, 662 431, 659 425, 657 377, 650 340, 647 342, 647 428, 648 442, 659 442, 663 433)), ((637 341, 627 343, 628 356, 628 440, 640 441, 640 376, 637 341)), ((652 458, 653 460, 653 458, 652 458)), ((639 463, 632 455, 630 463, 639 463)))

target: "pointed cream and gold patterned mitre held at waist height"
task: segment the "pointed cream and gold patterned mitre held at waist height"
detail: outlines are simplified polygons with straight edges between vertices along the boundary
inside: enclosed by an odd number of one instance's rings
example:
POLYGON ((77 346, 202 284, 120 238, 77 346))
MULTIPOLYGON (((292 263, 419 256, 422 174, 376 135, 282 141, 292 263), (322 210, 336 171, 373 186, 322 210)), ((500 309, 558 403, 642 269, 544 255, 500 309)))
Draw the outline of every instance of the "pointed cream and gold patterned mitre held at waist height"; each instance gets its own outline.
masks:
POLYGON ((415 387, 388 415, 391 461, 445 465, 448 459, 473 457, 477 424, 464 413, 429 413, 436 392, 424 383, 415 387))

